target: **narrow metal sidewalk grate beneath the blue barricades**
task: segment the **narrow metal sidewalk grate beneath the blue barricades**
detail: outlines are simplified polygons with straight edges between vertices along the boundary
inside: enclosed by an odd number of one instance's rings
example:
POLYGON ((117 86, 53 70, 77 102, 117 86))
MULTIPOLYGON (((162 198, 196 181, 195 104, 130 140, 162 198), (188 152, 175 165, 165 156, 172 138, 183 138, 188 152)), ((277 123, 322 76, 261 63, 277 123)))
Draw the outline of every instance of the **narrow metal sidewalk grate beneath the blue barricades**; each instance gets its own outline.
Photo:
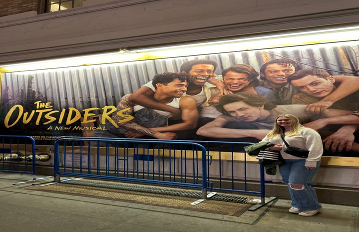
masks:
MULTIPOLYGON (((202 196, 201 192, 183 190, 183 189, 160 188, 160 187, 147 186, 147 185, 142 186, 142 185, 113 183, 113 182, 106 183, 106 182, 96 182, 96 181, 77 180, 77 179, 68 180, 68 181, 66 181, 66 183, 82 185, 82 186, 92 186, 92 187, 102 187, 102 188, 119 189, 119 190, 129 190, 129 191, 148 192, 148 193, 157 193, 157 194, 166 194, 166 195, 186 196, 186 197, 194 197, 194 198, 201 198, 201 196, 202 196)), ((248 200, 250 200, 250 197, 217 193, 216 195, 211 197, 211 199, 220 200, 220 201, 236 202, 236 203, 246 203, 248 200)))

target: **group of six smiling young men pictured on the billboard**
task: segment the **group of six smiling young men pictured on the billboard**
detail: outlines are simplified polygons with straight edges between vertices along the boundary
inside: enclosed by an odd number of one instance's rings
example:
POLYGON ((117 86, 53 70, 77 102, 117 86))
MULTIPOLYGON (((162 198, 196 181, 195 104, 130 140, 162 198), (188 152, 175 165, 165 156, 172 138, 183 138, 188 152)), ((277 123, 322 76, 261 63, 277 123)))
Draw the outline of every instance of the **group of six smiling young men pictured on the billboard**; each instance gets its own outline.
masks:
POLYGON ((327 150, 359 151, 358 77, 300 70, 286 58, 264 63, 259 73, 236 64, 216 75, 217 66, 195 59, 179 72, 156 74, 121 98, 113 115, 118 127, 106 125, 94 136, 253 142, 273 128, 277 115, 291 113, 321 132, 327 150))

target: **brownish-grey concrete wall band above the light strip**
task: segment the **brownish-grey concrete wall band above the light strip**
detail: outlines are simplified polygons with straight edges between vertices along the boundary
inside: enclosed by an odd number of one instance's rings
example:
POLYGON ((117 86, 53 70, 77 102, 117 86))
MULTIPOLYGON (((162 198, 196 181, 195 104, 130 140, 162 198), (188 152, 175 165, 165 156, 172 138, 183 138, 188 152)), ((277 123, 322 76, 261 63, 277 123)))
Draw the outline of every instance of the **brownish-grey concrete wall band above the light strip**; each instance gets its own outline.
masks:
POLYGON ((357 0, 117 0, 0 18, 0 62, 354 22, 353 10, 357 0))

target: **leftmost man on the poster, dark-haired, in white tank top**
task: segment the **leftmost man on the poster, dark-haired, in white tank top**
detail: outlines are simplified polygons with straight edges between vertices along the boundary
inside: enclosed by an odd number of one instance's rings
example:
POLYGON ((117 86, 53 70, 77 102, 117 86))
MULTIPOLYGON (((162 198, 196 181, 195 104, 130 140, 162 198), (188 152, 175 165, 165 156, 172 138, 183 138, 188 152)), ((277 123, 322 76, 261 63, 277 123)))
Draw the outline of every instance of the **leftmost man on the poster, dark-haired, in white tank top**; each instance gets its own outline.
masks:
POLYGON ((198 110, 192 97, 183 96, 187 90, 189 75, 185 73, 165 72, 156 74, 152 80, 156 89, 154 98, 171 107, 181 110, 181 122, 168 125, 167 118, 172 115, 165 110, 153 110, 137 105, 124 95, 117 105, 112 119, 106 122, 106 130, 96 130, 95 137, 128 137, 144 135, 158 139, 175 139, 176 131, 194 129, 198 122, 198 110))

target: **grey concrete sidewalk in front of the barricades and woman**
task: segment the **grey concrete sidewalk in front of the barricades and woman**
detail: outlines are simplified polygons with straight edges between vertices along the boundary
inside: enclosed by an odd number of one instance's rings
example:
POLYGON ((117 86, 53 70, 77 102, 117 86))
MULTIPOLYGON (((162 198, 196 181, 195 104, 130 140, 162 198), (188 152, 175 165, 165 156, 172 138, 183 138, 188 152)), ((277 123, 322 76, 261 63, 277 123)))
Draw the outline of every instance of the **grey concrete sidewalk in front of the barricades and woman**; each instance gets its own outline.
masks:
MULTIPOLYGON (((41 176, 36 176, 40 178, 41 176)), ((240 216, 24 189, 31 175, 0 172, 0 231, 326 231, 358 232, 359 207, 323 204, 315 216, 276 199, 240 216)))

